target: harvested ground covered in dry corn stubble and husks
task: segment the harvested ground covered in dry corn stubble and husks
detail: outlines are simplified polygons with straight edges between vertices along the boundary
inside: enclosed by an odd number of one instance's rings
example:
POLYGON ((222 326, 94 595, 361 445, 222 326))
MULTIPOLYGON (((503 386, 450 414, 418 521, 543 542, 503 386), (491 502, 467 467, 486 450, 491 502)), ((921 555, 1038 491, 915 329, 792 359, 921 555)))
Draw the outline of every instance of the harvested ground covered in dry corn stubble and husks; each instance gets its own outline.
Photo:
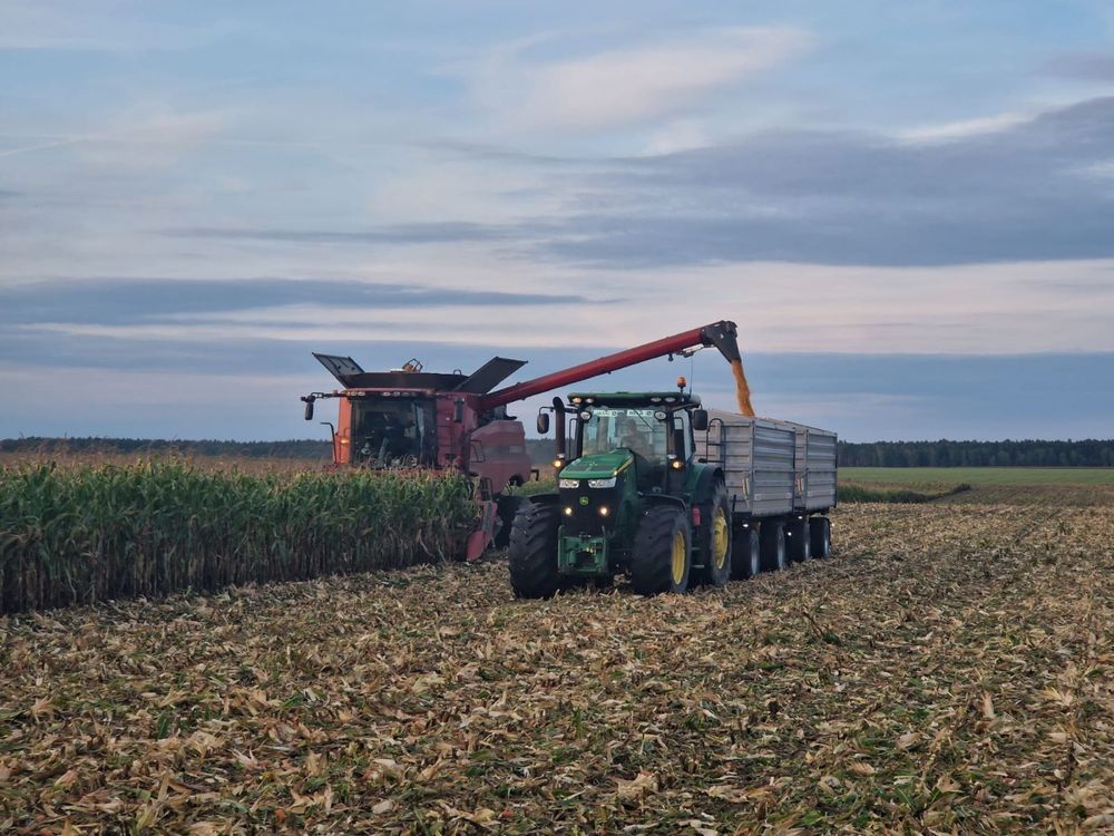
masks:
POLYGON ((492 560, 9 616, 0 829, 1114 827, 1114 508, 834 525, 681 597, 492 560))

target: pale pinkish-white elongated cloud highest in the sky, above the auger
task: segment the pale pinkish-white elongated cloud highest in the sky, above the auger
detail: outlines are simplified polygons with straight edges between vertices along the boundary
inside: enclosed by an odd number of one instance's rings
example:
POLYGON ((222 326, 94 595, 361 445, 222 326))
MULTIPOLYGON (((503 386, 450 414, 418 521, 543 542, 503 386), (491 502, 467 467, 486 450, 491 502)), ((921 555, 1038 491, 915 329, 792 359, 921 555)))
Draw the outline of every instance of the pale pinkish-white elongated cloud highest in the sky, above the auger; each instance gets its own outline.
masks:
POLYGON ((799 55, 808 41, 799 29, 726 27, 548 60, 532 57, 537 45, 529 41, 494 51, 469 80, 497 123, 593 132, 687 111, 799 55))

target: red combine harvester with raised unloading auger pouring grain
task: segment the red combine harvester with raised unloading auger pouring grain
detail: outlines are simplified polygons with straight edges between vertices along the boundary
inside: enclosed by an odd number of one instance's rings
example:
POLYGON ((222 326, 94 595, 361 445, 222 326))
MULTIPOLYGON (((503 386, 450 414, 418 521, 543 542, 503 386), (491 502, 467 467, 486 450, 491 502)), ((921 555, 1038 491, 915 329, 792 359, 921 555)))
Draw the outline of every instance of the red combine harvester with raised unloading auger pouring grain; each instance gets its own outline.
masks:
POLYGON ((314 353, 344 388, 311 392, 302 400, 306 420, 313 418, 316 400, 340 401, 336 426, 330 424, 334 467, 453 468, 475 477, 477 525, 463 550, 472 561, 492 541, 505 544, 519 503, 505 490, 531 475, 526 432, 521 421, 507 415, 509 404, 658 357, 688 357, 707 347, 741 368, 736 333, 734 322, 713 322, 496 391, 491 390, 525 360, 496 357, 463 375, 428 372, 417 360, 401 369, 364 371, 351 357, 314 353))

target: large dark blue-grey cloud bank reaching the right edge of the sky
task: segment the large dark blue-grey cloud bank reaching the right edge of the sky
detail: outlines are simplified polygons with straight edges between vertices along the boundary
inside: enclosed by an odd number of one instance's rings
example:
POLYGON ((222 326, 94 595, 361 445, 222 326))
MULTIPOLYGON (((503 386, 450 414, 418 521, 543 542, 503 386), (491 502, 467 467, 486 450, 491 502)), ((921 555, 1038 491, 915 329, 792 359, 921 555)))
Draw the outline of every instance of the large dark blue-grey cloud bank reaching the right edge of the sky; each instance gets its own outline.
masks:
POLYGON ((582 212, 538 227, 538 250, 626 269, 1110 257, 1112 149, 1114 97, 931 143, 768 132, 595 175, 582 212))

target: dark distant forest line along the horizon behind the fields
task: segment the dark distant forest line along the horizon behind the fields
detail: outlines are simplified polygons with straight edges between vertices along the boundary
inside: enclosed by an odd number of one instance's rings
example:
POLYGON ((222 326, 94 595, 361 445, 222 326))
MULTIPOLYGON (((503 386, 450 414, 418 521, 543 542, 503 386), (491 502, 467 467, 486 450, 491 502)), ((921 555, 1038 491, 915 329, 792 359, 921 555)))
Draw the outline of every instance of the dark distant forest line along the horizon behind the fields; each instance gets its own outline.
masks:
MULTIPOLYGON (((527 439, 535 464, 553 460, 554 443, 527 439)), ((329 441, 184 441, 143 438, 8 438, 0 453, 180 453, 193 456, 328 459, 329 441)), ((1114 439, 1083 441, 872 441, 839 444, 840 467, 1114 467, 1114 439)))

